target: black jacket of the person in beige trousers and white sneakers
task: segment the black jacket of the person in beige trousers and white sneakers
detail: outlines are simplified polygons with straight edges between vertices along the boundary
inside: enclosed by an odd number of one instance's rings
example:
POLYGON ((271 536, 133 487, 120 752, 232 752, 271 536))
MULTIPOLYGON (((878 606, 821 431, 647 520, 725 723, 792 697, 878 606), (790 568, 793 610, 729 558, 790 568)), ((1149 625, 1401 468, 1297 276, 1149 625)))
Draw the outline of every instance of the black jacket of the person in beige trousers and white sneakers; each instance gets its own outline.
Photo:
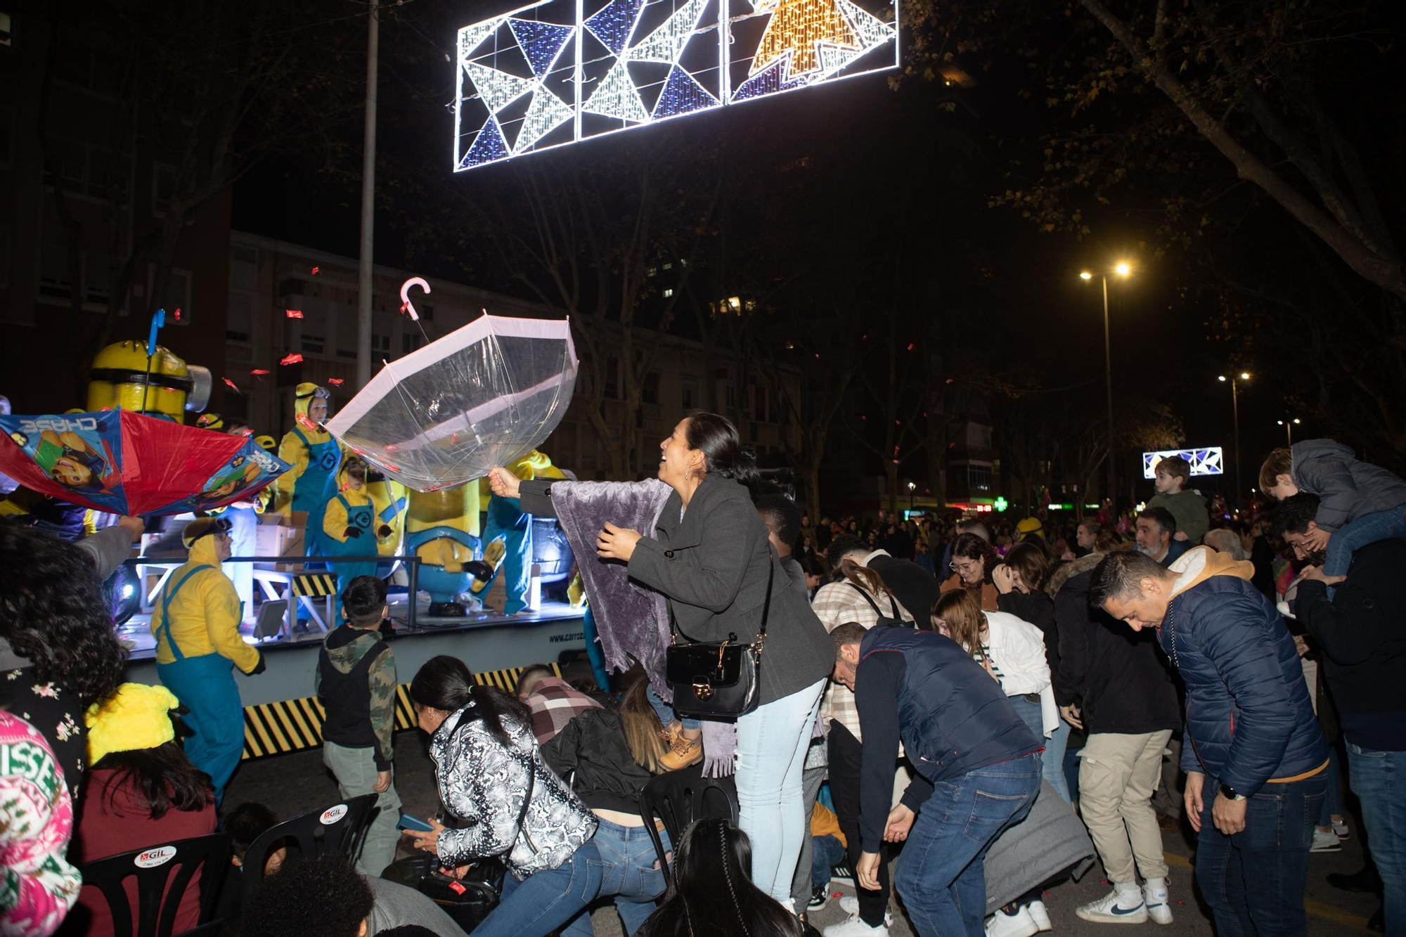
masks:
POLYGON ((1059 623, 1054 701, 1078 703, 1090 734, 1180 729, 1175 684, 1152 632, 1133 632, 1088 604, 1088 581, 1101 559, 1095 553, 1074 560, 1063 567, 1069 578, 1050 581, 1059 623))

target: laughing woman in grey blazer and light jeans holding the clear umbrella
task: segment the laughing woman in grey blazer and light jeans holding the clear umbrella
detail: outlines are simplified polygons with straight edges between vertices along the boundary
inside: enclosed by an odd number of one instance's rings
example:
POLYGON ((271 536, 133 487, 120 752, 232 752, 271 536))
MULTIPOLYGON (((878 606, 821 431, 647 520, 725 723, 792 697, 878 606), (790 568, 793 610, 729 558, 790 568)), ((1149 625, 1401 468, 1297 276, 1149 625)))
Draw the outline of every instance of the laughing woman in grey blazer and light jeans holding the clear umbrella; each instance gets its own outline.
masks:
MULTIPOLYGON (((752 643, 765 618, 759 705, 737 720, 737 799, 756 843, 752 881, 789 905, 807 834, 801 771, 834 649, 752 506, 756 464, 731 422, 685 418, 659 443, 658 477, 672 491, 652 536, 606 523, 596 553, 665 597, 682 640, 752 643)), ((519 484, 502 468, 489 481, 499 497, 522 497, 529 514, 555 514, 551 481, 519 484)))

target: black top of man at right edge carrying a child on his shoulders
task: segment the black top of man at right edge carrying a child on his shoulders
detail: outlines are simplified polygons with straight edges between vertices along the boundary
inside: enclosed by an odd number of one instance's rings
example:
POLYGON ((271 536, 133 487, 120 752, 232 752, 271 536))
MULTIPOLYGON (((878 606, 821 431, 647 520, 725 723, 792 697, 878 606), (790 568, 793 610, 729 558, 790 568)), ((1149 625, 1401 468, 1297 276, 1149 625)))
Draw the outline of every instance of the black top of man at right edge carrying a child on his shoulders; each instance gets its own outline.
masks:
POLYGON ((1295 611, 1323 650, 1323 674, 1343 734, 1374 751, 1406 751, 1406 543, 1353 554, 1330 602, 1322 582, 1299 584, 1295 611))

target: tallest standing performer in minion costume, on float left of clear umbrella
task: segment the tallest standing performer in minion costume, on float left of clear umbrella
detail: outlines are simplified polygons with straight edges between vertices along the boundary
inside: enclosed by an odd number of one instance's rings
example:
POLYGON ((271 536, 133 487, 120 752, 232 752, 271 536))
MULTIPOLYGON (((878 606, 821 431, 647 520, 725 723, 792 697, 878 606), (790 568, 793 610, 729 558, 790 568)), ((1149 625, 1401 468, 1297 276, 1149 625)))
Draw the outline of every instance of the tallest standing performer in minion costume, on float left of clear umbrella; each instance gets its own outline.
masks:
POLYGON ((298 384, 294 391, 295 425, 278 445, 278 457, 292 466, 274 480, 274 511, 307 511, 304 544, 308 556, 318 552, 323 539, 322 512, 336 494, 342 447, 332 433, 322 429, 328 418, 328 391, 316 384, 298 384))

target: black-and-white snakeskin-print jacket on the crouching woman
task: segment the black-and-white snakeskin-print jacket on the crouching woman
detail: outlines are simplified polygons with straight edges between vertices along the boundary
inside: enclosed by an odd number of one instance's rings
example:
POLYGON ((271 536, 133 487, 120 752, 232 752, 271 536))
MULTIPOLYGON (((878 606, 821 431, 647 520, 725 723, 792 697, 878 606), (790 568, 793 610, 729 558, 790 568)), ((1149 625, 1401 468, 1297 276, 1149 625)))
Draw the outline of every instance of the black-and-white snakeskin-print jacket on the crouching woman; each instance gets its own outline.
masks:
POLYGON ((440 861, 498 855, 517 881, 560 867, 595 836, 596 817, 541 760, 530 726, 509 722, 503 746, 474 709, 451 713, 430 739, 440 801, 464 823, 439 834, 440 861))

